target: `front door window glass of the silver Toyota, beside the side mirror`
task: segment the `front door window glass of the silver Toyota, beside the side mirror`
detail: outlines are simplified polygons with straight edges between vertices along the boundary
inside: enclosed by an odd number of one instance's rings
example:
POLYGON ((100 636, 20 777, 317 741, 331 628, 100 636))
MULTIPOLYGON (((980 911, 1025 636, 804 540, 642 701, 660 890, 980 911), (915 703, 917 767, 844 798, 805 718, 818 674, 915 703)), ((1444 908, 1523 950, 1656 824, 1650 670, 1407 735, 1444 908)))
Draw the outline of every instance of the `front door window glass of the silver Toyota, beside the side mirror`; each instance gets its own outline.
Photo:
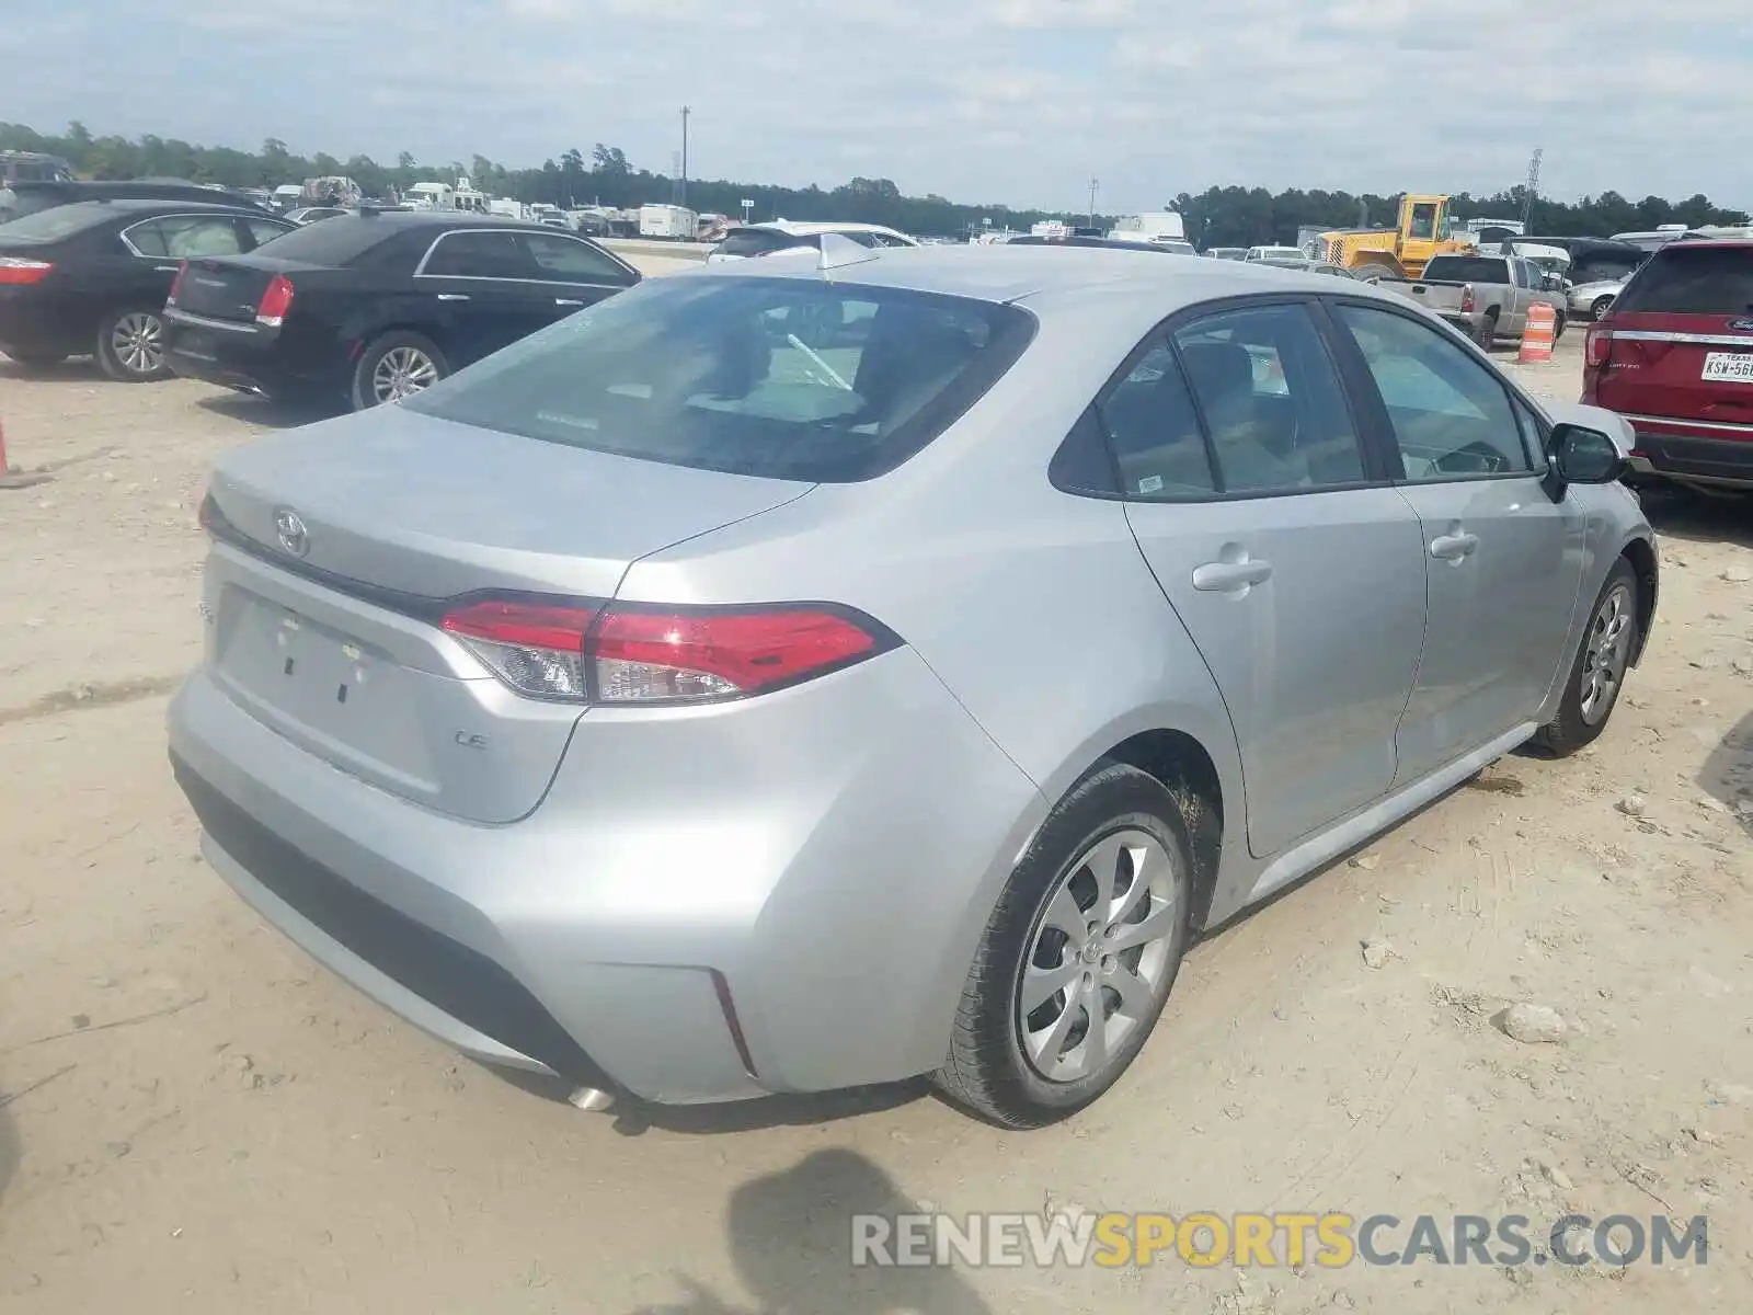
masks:
POLYGON ((1509 393, 1464 347, 1406 316, 1336 307, 1388 410, 1406 479, 1434 482, 1534 468, 1509 393))

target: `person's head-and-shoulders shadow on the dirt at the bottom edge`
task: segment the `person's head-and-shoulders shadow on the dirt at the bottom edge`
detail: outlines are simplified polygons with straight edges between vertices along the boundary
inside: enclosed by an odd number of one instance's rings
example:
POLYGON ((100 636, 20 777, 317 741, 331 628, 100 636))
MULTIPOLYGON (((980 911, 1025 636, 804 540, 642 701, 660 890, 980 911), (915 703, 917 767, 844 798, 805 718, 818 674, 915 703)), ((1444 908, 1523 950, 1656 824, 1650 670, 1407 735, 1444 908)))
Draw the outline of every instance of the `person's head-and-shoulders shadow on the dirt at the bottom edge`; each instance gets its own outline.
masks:
POLYGON ((854 1215, 892 1220, 919 1210, 857 1152, 819 1150, 743 1184, 726 1205, 731 1261, 754 1308, 675 1275, 687 1294, 678 1304, 643 1306, 633 1315, 990 1315, 948 1266, 854 1264, 854 1215))

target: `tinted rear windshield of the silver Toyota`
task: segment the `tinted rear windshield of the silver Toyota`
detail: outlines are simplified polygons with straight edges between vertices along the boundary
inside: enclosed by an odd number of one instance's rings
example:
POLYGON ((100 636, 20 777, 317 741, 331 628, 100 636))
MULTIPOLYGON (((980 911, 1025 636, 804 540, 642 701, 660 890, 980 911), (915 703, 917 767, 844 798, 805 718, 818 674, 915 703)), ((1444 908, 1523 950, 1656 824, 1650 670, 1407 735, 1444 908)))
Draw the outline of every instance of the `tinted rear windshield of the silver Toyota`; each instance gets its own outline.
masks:
POLYGON ((403 405, 570 447, 850 482, 947 430, 1022 354, 1026 310, 813 279, 652 279, 403 405))

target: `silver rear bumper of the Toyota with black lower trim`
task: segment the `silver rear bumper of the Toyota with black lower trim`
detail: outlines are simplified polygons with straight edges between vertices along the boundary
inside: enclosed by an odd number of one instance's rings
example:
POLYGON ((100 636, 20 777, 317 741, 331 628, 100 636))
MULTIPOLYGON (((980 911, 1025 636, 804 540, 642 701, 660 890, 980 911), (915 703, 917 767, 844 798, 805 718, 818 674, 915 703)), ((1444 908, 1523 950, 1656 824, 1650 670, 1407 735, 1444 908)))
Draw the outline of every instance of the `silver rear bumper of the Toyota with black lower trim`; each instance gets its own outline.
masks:
POLYGON ((936 1068, 1045 815, 908 649, 749 703, 596 708, 510 826, 333 770, 205 673, 170 752, 214 870, 340 977, 486 1063, 664 1103, 936 1068))

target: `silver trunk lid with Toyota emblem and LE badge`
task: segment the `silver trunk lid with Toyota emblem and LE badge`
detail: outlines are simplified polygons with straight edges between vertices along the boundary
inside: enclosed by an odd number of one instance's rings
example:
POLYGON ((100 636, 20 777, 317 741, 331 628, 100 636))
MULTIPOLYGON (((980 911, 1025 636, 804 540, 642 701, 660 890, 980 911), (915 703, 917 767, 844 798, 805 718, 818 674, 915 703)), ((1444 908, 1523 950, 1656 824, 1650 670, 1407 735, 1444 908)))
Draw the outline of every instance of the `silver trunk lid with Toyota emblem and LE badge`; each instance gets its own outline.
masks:
POLYGON ((507 689, 438 629, 442 600, 612 598, 638 558, 810 487, 401 407, 291 431, 214 470, 207 670, 331 766, 445 814, 510 822, 540 803, 582 710, 507 689))

